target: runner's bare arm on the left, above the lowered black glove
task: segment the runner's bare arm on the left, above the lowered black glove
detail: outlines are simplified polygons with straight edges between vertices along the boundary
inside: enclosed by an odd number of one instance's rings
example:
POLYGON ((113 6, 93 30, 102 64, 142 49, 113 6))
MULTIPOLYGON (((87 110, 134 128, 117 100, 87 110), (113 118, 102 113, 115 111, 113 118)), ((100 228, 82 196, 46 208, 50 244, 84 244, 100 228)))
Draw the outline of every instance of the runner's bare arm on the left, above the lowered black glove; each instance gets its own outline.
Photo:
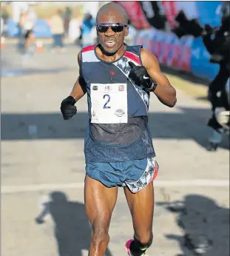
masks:
POLYGON ((70 96, 72 96, 72 98, 75 98, 75 101, 80 100, 80 98, 82 98, 87 92, 86 82, 81 75, 81 52, 78 53, 78 65, 79 76, 72 88, 72 92, 70 93, 70 96))

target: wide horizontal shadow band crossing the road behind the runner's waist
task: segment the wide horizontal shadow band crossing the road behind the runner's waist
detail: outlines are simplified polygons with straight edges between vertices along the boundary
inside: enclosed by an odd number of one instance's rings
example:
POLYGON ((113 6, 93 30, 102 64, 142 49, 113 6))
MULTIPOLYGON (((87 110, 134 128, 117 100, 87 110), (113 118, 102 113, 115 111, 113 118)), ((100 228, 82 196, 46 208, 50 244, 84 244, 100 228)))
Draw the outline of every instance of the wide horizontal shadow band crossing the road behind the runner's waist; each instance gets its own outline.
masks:
MULTIPOLYGON (((180 112, 150 112, 149 127, 153 138, 193 140, 206 147, 211 133, 206 123, 211 111, 179 107, 180 112)), ((64 121, 61 112, 1 113, 1 140, 40 140, 84 138, 88 122, 87 112, 78 112, 64 121)), ((229 149, 229 140, 220 147, 229 149)))

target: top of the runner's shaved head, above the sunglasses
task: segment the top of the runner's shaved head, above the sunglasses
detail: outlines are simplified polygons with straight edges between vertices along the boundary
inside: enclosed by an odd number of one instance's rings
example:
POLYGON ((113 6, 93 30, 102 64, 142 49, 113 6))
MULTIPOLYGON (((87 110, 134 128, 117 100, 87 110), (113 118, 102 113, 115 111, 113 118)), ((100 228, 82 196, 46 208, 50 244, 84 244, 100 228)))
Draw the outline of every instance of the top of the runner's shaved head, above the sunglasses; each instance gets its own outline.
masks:
POLYGON ((124 10, 124 8, 120 5, 120 4, 116 4, 116 3, 108 3, 108 4, 104 4, 100 10, 98 10, 98 14, 97 14, 97 22, 99 22, 98 20, 101 19, 101 17, 114 17, 114 16, 118 16, 121 18, 124 18, 124 23, 128 23, 129 21, 129 17, 127 16, 126 11, 124 10))

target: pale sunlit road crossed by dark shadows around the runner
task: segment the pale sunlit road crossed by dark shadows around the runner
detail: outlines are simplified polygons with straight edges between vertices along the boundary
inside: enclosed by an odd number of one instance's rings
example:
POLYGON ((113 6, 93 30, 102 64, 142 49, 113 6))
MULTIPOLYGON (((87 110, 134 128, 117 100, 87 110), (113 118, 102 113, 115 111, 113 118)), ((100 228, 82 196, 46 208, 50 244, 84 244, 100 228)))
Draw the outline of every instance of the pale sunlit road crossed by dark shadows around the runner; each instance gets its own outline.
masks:
MULTIPOLYGON (((1 51, 1 255, 84 256, 91 229, 84 212, 84 129, 78 114, 61 117, 61 100, 78 76, 78 49, 24 58, 1 51)), ((177 90, 177 106, 152 95, 149 126, 160 165, 155 181, 154 241, 148 255, 229 256, 229 142, 207 152, 210 106, 177 90), (198 249, 195 249, 196 245, 198 249)), ((199 90, 199 85, 197 85, 199 90)), ((124 192, 109 229, 108 256, 123 256, 132 238, 124 192)))

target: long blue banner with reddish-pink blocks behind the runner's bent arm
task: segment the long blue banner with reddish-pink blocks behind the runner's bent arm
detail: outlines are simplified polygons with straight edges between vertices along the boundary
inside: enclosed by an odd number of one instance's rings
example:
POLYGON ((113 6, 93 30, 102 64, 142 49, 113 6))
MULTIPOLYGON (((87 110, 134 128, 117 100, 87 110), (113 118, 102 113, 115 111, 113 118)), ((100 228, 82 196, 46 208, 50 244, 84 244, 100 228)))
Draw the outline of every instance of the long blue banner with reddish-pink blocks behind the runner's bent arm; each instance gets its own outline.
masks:
POLYGON ((210 55, 202 38, 177 38, 173 33, 151 29, 138 31, 134 42, 153 53, 160 64, 190 71, 201 78, 212 80, 219 70, 218 64, 209 62, 210 55))

